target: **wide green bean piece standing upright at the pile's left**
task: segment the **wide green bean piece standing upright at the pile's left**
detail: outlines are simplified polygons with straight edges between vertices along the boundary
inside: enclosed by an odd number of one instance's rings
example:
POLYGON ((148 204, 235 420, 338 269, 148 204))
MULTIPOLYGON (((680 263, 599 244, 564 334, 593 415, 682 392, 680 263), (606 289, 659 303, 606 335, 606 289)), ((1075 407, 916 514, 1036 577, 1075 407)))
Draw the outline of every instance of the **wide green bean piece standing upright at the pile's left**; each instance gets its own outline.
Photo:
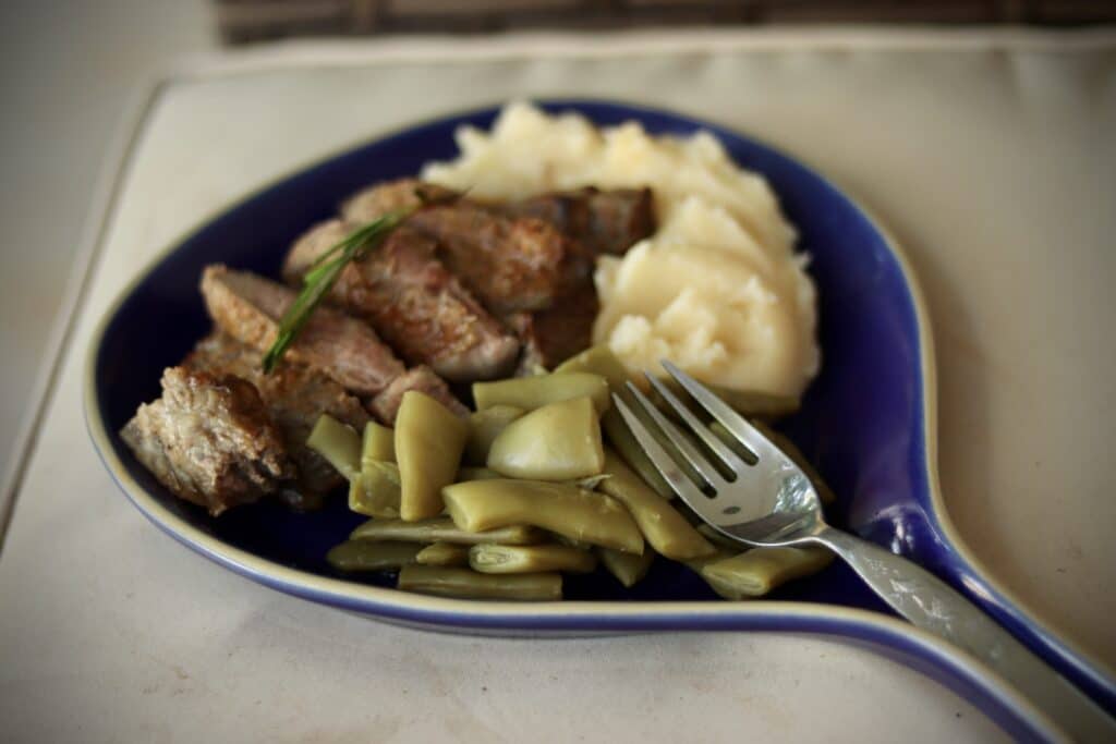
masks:
POLYGON ((395 418, 395 456, 403 477, 400 515, 408 522, 442 511, 440 491, 453 483, 469 424, 434 398, 407 390, 395 418))

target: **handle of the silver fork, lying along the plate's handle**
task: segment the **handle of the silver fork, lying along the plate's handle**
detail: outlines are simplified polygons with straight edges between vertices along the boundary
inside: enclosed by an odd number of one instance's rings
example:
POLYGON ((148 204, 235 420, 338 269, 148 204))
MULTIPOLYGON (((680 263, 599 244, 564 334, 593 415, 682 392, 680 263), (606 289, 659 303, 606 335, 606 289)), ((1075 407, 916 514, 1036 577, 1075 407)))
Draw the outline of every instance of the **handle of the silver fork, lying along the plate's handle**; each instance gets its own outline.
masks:
POLYGON ((825 526, 808 540, 845 560, 892 609, 991 667, 1072 738, 1116 741, 1116 721, 944 581, 901 555, 825 526))

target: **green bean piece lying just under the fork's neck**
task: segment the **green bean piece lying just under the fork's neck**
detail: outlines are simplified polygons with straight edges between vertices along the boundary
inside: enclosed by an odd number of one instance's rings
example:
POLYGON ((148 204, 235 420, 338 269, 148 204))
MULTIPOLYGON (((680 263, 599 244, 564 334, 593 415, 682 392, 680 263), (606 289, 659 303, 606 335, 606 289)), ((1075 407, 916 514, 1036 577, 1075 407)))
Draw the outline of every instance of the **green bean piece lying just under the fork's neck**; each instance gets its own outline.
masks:
POLYGON ((701 567, 703 579, 724 599, 762 597, 791 579, 817 573, 833 561, 825 548, 756 548, 701 567))

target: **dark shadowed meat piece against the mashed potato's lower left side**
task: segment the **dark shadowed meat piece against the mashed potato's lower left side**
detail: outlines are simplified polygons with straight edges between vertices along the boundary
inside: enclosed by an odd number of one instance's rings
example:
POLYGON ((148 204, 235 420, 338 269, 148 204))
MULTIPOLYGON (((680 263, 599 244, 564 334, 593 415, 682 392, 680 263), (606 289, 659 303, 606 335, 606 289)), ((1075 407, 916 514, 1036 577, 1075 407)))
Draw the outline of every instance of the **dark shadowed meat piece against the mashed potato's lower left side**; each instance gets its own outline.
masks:
POLYGON ((554 369, 593 344, 593 321, 597 317, 597 291, 585 282, 538 312, 517 312, 504 318, 523 342, 517 374, 533 374, 538 367, 554 369))

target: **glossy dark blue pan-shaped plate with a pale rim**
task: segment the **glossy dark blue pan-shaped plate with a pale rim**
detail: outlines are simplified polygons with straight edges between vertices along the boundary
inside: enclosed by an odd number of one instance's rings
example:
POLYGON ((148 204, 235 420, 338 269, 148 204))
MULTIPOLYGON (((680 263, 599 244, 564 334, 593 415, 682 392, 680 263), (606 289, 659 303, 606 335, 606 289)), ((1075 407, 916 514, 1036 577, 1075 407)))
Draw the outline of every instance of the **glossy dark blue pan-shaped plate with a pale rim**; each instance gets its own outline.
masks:
MULTIPOLYGON (((964 591, 1076 684, 1109 707, 1116 699, 1083 659, 1029 621, 982 577, 945 515, 935 462, 934 360, 925 306, 910 267, 885 231, 848 196, 795 160, 722 127, 614 103, 543 104, 599 125, 636 119, 650 132, 712 132, 740 165, 764 175, 800 231, 818 286, 821 374, 785 431, 818 465, 845 525, 910 555, 964 591)), ((131 455, 117 432, 158 396, 164 367, 209 329, 198 291, 202 267, 224 262, 278 276, 292 240, 369 183, 411 175, 456 154, 453 132, 487 128, 497 109, 449 116, 362 145, 249 196, 169 249, 124 292, 96 334, 86 378, 86 417, 102 458, 157 526, 218 563, 281 591, 385 620, 464 632, 584 634, 634 630, 783 630, 837 635, 882 650, 949 684, 1009 733, 1045 736, 1041 714, 983 667, 901 624, 837 563, 780 589, 770 601, 730 603, 687 569, 660 560, 624 590, 605 576, 570 577, 573 601, 471 602, 395 591, 331 571, 326 550, 362 521, 344 500, 310 515, 259 505, 210 519, 171 495, 131 455)))

